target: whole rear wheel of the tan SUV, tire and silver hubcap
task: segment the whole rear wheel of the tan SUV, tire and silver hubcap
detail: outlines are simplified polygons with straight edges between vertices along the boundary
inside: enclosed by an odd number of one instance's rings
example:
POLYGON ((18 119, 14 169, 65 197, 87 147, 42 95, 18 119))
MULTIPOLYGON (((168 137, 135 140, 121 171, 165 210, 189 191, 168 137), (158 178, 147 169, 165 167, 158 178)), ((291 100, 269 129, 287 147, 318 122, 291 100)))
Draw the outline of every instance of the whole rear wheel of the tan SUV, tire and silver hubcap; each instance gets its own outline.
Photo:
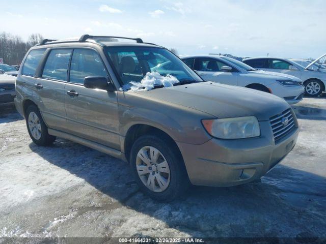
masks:
POLYGON ((55 136, 48 134, 41 113, 35 105, 30 105, 26 110, 26 125, 35 144, 47 146, 56 140, 55 136))

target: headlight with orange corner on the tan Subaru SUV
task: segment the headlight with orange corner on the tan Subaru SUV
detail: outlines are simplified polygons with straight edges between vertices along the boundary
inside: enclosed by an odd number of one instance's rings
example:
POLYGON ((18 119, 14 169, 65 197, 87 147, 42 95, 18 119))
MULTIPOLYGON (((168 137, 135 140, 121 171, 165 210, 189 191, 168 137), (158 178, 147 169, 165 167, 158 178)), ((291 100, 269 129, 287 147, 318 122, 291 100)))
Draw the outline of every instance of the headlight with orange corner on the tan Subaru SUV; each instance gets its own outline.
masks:
POLYGON ((203 126, 213 137, 240 139, 260 136, 258 120, 255 116, 203 119, 203 126))

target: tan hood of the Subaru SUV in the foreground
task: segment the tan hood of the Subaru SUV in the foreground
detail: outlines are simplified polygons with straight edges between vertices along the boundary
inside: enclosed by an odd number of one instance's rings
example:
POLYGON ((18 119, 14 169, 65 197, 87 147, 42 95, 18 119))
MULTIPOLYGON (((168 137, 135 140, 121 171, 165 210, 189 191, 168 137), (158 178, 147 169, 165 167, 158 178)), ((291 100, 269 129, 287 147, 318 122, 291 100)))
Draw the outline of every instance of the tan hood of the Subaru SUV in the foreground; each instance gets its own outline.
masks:
POLYGON ((289 105, 281 98, 240 86, 199 82, 138 91, 142 96, 193 108, 218 118, 256 116, 269 120, 289 105))

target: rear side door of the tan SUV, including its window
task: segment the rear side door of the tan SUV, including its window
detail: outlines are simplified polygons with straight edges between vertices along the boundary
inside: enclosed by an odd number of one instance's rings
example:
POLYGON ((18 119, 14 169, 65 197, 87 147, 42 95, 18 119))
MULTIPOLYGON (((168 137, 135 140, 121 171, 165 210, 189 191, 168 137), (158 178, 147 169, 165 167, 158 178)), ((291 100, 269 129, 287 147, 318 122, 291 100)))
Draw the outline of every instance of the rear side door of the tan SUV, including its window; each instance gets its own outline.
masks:
POLYGON ((42 64, 43 72, 35 79, 34 98, 51 129, 65 128, 64 87, 71 53, 72 49, 48 49, 42 64))

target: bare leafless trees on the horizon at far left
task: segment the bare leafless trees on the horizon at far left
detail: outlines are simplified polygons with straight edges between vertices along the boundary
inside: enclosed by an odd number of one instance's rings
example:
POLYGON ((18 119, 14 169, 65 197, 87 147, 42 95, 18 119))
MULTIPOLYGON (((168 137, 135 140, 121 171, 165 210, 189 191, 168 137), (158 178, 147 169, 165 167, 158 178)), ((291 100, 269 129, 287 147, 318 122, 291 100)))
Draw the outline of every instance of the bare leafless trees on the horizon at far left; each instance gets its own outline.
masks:
POLYGON ((31 34, 27 41, 10 33, 0 33, 0 57, 4 64, 20 65, 26 52, 35 44, 43 40, 41 34, 31 34))

